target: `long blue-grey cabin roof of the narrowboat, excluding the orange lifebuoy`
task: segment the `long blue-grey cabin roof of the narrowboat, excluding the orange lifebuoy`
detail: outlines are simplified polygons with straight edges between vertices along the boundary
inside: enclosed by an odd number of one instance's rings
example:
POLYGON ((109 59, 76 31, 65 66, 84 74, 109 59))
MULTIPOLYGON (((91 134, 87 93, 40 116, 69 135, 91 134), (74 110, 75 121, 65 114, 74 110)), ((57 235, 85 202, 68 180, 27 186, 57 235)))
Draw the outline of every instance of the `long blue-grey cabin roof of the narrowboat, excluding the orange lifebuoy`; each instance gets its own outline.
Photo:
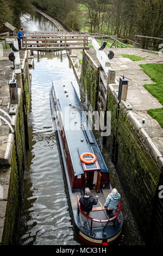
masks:
POLYGON ((68 81, 66 81, 66 84, 62 81, 54 81, 53 86, 59 108, 57 115, 58 118, 62 119, 74 176, 89 170, 100 170, 109 173, 73 84, 68 81), (80 155, 86 152, 95 154, 97 161, 92 164, 82 163, 80 155))

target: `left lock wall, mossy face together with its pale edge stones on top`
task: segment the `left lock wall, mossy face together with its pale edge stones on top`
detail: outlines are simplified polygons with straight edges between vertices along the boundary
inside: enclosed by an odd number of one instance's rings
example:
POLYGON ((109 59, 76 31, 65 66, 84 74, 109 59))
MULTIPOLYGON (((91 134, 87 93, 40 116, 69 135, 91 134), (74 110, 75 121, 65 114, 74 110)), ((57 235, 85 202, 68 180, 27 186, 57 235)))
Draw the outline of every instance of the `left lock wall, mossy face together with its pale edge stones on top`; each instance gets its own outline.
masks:
POLYGON ((18 105, 14 120, 14 133, 9 133, 8 160, 1 161, 0 184, 3 186, 3 198, 0 200, 0 244, 18 243, 17 230, 20 228, 21 189, 23 182, 24 154, 28 141, 28 111, 30 99, 30 75, 28 56, 25 54, 22 72, 17 77, 18 105), (26 108, 26 109, 24 109, 26 108))

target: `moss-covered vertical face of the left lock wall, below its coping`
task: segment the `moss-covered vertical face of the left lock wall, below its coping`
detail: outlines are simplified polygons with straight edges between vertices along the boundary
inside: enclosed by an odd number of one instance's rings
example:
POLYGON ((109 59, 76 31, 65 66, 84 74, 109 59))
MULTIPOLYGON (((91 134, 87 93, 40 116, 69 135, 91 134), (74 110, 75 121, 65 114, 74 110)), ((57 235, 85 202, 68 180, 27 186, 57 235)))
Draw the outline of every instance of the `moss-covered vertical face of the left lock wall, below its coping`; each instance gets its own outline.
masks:
MULTIPOLYGON (((28 62, 27 62, 28 64, 28 62)), ((28 66, 26 66, 28 69, 28 66)), ((17 244, 17 230, 20 228, 19 217, 21 213, 21 190, 24 170, 24 154, 26 151, 26 140, 28 140, 28 112, 29 112, 29 70, 27 70, 26 83, 23 84, 23 92, 18 103, 18 113, 16 114, 14 147, 12 150, 11 164, 7 171, 10 172, 8 203, 4 222, 2 237, 3 245, 17 244), (26 111, 24 111, 24 104, 26 111), (24 116, 25 115, 25 116, 24 116)), ((25 73, 26 75, 26 73, 25 73)))

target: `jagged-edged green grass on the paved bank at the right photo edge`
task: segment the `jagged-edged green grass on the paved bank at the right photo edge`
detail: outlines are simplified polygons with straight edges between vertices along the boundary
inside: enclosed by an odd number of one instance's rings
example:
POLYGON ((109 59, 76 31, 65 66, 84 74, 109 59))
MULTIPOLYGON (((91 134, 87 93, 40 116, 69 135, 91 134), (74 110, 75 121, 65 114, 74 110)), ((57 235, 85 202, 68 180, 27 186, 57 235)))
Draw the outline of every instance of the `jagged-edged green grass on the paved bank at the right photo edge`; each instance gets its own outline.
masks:
MULTIPOLYGON (((163 105, 163 64, 141 64, 142 70, 155 82, 155 84, 145 84, 144 87, 163 105)), ((163 107, 149 109, 150 114, 163 127, 163 107)))

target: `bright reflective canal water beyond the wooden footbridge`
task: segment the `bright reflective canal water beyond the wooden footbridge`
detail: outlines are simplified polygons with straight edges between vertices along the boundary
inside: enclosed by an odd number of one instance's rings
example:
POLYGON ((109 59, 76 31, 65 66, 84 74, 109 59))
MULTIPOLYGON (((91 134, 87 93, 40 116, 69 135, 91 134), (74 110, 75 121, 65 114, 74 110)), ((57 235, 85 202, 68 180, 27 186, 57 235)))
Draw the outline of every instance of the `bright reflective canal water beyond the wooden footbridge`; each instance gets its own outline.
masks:
POLYGON ((21 16, 21 27, 24 28, 25 34, 33 31, 58 31, 54 23, 37 12, 34 14, 23 14, 21 16))

